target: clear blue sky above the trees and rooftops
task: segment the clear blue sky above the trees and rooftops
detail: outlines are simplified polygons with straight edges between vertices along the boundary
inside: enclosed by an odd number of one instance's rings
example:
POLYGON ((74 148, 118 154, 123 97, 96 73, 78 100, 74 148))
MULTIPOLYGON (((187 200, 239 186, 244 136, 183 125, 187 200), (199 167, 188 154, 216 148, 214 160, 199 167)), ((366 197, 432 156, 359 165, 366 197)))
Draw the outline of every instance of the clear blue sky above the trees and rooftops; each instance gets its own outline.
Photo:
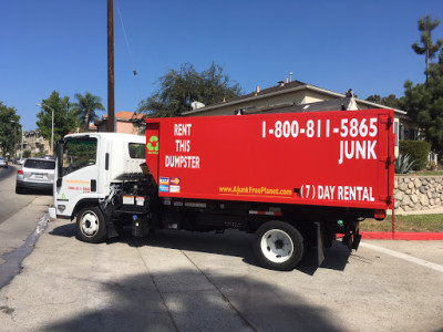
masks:
MULTIPOLYGON (((114 0, 115 110, 136 111, 157 79, 186 62, 220 64, 245 93, 293 80, 359 97, 403 95, 424 81, 416 21, 443 1, 114 0), (126 48, 120 13, 133 63, 126 48), (137 82, 138 81, 138 82, 137 82)), ((443 38, 443 23, 433 39, 443 38)), ((52 91, 89 91, 107 108, 106 0, 0 0, 0 101, 33 129, 52 91)), ((105 114, 105 113, 102 113, 105 114)))

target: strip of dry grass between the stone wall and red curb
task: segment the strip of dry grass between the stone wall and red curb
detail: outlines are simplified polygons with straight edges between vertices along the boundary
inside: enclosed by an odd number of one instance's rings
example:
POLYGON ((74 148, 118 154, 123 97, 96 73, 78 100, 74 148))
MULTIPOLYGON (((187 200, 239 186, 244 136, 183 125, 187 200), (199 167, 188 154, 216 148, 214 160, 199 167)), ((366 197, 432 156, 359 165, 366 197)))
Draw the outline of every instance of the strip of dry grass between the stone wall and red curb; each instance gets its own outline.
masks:
MULTIPOLYGON (((392 231, 392 216, 383 221, 365 219, 360 222, 363 231, 392 231)), ((443 232, 443 215, 395 216, 395 231, 443 232)))

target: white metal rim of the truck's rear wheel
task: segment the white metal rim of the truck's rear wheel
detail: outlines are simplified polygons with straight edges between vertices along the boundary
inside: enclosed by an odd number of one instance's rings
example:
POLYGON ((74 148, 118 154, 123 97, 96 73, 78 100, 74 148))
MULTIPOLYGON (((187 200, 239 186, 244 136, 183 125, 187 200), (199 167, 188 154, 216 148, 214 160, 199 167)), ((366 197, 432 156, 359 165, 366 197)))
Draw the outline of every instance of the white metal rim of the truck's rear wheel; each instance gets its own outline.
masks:
POLYGON ((261 252, 275 263, 288 261, 293 253, 293 242, 290 236, 280 229, 270 229, 261 237, 261 252))

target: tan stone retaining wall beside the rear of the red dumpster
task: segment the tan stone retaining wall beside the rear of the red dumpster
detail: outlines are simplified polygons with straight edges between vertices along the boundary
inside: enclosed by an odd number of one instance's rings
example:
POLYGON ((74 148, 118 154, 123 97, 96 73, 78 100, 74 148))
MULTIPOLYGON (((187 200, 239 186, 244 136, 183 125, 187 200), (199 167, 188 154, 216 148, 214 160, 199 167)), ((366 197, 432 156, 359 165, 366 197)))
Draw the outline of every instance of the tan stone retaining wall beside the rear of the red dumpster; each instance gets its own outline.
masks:
POLYGON ((443 205, 443 176, 395 176, 395 211, 416 211, 443 205))

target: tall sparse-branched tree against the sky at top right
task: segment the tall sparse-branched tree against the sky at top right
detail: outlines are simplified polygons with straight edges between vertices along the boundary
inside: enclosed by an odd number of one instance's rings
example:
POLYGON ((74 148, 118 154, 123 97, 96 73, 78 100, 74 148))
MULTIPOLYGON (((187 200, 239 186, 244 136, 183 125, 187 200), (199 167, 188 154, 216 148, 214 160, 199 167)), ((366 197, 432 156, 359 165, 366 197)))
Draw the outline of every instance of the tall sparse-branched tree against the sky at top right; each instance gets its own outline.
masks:
POLYGON ((423 46, 419 46, 419 43, 412 44, 412 50, 415 51, 416 54, 425 54, 425 62, 426 62, 426 82, 429 79, 429 68, 430 68, 430 60, 432 60, 435 54, 439 52, 440 48, 443 45, 443 39, 439 39, 436 43, 432 41, 432 30, 439 27, 440 21, 437 19, 432 20, 430 14, 426 14, 424 18, 419 20, 419 30, 422 32, 421 34, 421 42, 423 46))

